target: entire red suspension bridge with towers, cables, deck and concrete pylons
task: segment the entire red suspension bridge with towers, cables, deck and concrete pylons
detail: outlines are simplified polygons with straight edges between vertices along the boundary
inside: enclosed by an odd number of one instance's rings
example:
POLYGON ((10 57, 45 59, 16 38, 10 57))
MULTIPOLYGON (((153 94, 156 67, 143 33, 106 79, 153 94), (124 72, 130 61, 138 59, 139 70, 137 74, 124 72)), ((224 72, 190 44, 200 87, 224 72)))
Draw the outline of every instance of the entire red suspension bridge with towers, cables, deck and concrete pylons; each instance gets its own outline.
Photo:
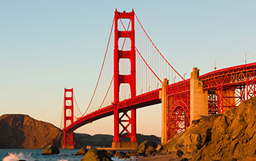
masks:
POLYGON ((138 145, 136 109, 157 103, 162 103, 163 144, 200 115, 221 114, 254 97, 255 85, 256 63, 202 76, 193 68, 190 79, 184 79, 159 52, 135 12, 116 10, 97 84, 84 113, 73 89, 64 90, 64 148, 74 147, 74 130, 110 115, 114 117, 112 147, 134 148, 138 145))

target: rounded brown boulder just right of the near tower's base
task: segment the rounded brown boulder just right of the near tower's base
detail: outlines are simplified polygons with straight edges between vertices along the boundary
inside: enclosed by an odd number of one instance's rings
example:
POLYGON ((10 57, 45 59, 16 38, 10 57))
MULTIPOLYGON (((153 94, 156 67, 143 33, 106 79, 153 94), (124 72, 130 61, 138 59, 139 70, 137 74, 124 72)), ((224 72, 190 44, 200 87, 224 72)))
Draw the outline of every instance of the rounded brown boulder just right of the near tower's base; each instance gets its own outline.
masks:
POLYGON ((136 147, 135 152, 139 155, 152 154, 157 148, 157 144, 152 141, 143 141, 139 146, 136 147), (148 150, 147 150, 148 149, 148 150))

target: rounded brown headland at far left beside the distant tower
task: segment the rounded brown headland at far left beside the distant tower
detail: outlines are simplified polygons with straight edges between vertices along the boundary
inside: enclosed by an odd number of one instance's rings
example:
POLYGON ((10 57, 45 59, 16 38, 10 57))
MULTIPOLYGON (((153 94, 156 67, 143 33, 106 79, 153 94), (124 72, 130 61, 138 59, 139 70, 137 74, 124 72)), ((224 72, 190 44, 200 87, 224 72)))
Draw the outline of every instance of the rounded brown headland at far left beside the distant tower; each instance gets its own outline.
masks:
POLYGON ((39 149, 49 144, 61 146, 62 131, 48 122, 24 114, 0 117, 0 148, 39 149))

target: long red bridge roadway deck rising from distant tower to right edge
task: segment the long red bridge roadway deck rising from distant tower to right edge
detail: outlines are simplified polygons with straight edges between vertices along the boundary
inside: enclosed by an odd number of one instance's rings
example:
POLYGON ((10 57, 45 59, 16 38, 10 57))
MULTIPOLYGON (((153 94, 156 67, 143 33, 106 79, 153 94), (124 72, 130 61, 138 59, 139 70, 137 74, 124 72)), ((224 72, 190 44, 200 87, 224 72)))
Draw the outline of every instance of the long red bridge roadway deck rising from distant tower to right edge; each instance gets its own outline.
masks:
MULTIPOLYGON (((199 78, 201 81, 203 81, 203 90, 217 90, 218 87, 237 87, 244 85, 254 85, 255 88, 256 63, 249 63, 241 66, 233 66, 230 68, 219 69, 217 71, 211 71, 207 74, 199 76, 199 78)), ((179 93, 189 93, 189 85, 190 79, 167 85, 167 93, 169 93, 169 95, 174 95, 175 93, 176 95, 179 93)), ((135 98, 129 98, 127 100, 118 102, 116 105, 112 104, 97 111, 91 112, 90 114, 86 114, 86 116, 80 117, 71 125, 67 126, 64 130, 69 133, 97 119, 102 119, 104 117, 113 115, 115 108, 118 108, 118 111, 121 112, 133 108, 139 109, 161 103, 161 99, 159 98, 160 90, 162 90, 162 88, 144 93, 142 95, 137 95, 135 98)))

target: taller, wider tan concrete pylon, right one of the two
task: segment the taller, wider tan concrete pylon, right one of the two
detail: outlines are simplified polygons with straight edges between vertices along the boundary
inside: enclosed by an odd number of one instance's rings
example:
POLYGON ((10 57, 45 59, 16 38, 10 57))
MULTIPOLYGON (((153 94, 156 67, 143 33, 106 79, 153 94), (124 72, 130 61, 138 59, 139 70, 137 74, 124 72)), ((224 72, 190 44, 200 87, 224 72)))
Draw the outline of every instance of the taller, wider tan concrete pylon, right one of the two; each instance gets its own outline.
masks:
POLYGON ((208 116, 208 91, 203 91, 203 82, 198 76, 199 69, 193 68, 190 79, 190 124, 200 116, 208 116))

